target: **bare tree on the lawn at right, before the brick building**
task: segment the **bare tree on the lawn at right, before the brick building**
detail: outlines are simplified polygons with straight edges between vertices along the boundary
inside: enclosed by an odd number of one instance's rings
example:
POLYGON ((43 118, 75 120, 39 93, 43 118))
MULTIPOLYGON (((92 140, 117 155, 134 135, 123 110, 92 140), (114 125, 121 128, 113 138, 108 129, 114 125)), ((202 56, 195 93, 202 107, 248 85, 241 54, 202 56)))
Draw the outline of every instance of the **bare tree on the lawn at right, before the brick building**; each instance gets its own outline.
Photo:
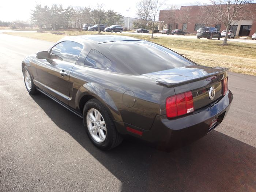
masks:
POLYGON ((245 18, 244 5, 252 0, 210 0, 211 5, 203 5, 209 16, 223 23, 226 27, 226 35, 223 45, 227 45, 229 28, 234 25, 234 20, 239 21, 245 18))

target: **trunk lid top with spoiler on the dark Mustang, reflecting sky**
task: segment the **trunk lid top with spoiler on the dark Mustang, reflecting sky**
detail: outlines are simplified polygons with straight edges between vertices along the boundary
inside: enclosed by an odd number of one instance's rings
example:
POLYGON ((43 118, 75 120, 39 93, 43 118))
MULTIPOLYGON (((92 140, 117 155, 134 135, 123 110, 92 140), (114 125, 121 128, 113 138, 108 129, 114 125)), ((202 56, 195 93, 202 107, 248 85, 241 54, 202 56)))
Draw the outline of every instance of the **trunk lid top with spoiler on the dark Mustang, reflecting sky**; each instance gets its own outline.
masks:
POLYGON ((153 78, 157 82, 172 86, 175 84, 185 84, 188 82, 194 82, 199 79, 207 78, 221 72, 226 71, 227 68, 222 67, 205 67, 201 65, 191 65, 186 67, 167 69, 164 71, 153 72, 149 74, 143 74, 148 78, 153 78))

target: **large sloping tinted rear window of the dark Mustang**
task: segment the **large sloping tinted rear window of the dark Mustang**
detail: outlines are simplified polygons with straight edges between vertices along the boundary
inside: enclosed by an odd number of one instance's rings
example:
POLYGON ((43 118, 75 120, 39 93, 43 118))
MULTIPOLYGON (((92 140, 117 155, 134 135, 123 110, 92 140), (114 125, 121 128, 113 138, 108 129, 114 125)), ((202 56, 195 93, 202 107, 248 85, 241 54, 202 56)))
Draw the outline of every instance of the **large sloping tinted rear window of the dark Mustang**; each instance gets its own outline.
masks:
POLYGON ((195 65, 172 50, 148 41, 116 41, 101 45, 140 75, 195 65))

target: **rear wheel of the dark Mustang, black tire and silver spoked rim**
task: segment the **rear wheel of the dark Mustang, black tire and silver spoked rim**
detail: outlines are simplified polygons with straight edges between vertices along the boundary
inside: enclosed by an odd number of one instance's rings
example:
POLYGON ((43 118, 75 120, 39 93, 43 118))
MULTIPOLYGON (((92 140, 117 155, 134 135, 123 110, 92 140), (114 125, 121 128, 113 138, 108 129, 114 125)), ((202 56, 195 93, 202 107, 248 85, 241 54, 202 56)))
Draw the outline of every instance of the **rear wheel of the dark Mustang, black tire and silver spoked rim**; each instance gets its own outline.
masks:
POLYGON ((83 109, 83 121, 91 142, 101 150, 117 147, 123 138, 118 134, 108 109, 97 99, 90 99, 83 109))

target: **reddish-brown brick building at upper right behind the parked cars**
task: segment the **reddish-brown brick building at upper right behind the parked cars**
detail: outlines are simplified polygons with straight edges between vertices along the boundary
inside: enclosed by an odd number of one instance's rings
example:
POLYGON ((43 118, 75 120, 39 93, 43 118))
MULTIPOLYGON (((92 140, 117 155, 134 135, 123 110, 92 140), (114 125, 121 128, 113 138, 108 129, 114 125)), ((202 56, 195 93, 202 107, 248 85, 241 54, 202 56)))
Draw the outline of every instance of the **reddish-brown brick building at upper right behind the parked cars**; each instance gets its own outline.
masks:
MULTIPOLYGON (((241 18, 233 20, 230 30, 239 36, 252 36, 256 32, 256 3, 248 3, 244 6, 246 12, 243 13, 243 20, 240 20, 241 18)), ((182 29, 189 33, 196 33, 202 26, 216 27, 220 31, 226 29, 223 23, 207 19, 203 6, 181 6, 179 10, 160 10, 159 12, 159 30, 182 29)))

